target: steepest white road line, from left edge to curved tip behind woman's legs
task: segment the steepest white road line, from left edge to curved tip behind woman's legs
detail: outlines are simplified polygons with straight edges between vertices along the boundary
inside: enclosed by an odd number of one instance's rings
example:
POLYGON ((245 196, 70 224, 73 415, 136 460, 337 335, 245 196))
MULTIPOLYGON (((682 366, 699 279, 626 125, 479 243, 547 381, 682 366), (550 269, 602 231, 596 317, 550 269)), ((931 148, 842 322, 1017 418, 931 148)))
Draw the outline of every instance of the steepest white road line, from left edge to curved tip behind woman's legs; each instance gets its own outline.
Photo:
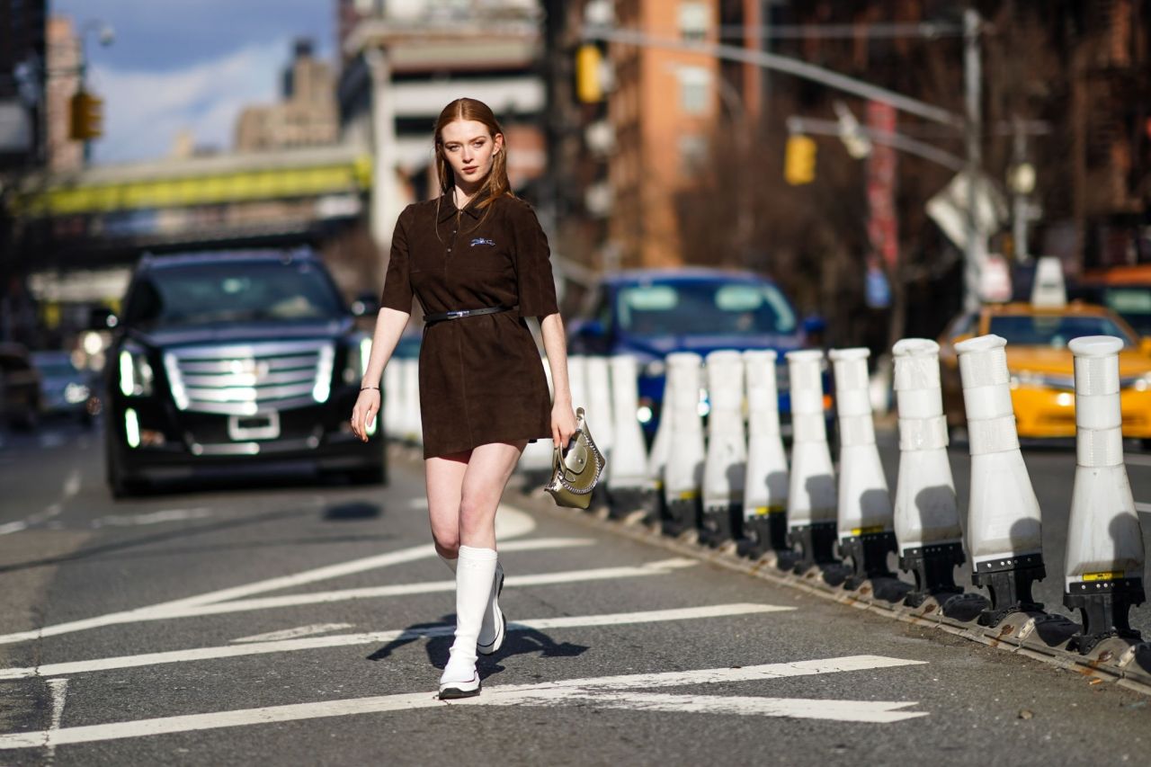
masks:
MULTIPOLYGON (((505 538, 511 538, 517 534, 525 534, 534 529, 535 521, 532 519, 527 514, 512 508, 501 507, 501 509, 505 512, 505 518, 511 518, 511 522, 504 523, 505 538), (526 522, 524 522, 520 518, 526 518, 526 522)), ((496 529, 497 530, 501 529, 501 523, 498 522, 498 519, 496 522, 496 529)), ((566 548, 570 546, 590 546, 595 541, 590 538, 538 538, 532 540, 523 540, 523 541, 513 540, 500 544, 500 549, 504 552, 514 552, 514 550, 533 550, 541 548, 566 548)), ((396 552, 388 552, 387 554, 376 554, 360 560, 341 562, 340 564, 330 564, 327 567, 317 568, 314 570, 305 570, 303 572, 297 572, 296 575, 291 576, 282 576, 279 578, 270 578, 268 580, 258 580, 256 583, 250 583, 243 586, 234 586, 231 588, 213 591, 196 597, 177 599, 170 602, 160 602, 158 605, 137 607, 135 609, 122 610, 120 613, 108 613, 106 615, 98 615, 91 618, 70 621, 68 623, 58 623, 55 625, 48 625, 41 629, 33 629, 31 631, 7 633, 0 636, 0 645, 10 645, 17 641, 39 639, 41 637, 54 637, 62 633, 85 631, 87 629, 94 629, 105 625, 114 625, 119 623, 135 623, 136 621, 147 620, 147 616, 151 613, 158 610, 162 612, 177 607, 222 602, 227 599, 247 597, 250 594, 258 594, 266 591, 275 591, 277 588, 289 588, 291 586, 300 586, 308 583, 315 583, 317 580, 326 580, 328 578, 336 578, 340 576, 351 575, 355 572, 364 572, 365 570, 386 568, 391 564, 402 564, 404 562, 411 562, 413 560, 427 559, 433 556, 435 556, 435 547, 433 547, 430 544, 424 544, 421 546, 413 546, 411 548, 404 548, 396 552)))

